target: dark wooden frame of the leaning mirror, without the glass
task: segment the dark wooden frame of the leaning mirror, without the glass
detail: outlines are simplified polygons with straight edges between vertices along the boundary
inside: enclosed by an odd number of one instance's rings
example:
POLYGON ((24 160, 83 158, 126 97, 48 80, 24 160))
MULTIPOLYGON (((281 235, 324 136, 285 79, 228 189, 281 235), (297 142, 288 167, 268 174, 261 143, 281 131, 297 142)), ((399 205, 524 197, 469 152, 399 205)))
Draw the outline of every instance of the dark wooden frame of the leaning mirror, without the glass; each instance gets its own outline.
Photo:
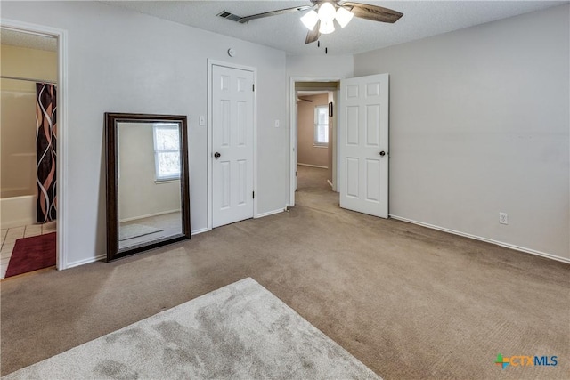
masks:
POLYGON ((188 166, 188 130, 186 116, 105 113, 105 141, 107 166, 107 262, 162 247, 180 240, 191 239, 190 234, 190 174, 188 166), (118 123, 180 123, 180 192, 182 233, 165 238, 118 247, 118 123))

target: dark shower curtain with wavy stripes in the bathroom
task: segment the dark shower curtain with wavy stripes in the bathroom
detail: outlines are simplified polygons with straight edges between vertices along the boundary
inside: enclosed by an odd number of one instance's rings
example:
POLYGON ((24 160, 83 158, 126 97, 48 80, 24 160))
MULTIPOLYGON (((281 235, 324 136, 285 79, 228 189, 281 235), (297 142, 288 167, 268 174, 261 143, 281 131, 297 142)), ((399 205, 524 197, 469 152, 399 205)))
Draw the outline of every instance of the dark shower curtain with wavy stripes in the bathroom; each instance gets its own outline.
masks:
POLYGON ((55 85, 36 84, 37 222, 55 220, 56 195, 56 91, 55 85))

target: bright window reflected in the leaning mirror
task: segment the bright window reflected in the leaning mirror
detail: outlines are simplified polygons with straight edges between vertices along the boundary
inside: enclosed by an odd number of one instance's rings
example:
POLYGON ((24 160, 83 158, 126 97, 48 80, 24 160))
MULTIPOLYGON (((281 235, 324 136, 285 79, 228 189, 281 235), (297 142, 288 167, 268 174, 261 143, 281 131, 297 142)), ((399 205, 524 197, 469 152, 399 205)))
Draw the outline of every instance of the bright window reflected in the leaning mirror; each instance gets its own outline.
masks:
POLYGON ((156 181, 180 179, 180 128, 176 123, 152 125, 156 181))

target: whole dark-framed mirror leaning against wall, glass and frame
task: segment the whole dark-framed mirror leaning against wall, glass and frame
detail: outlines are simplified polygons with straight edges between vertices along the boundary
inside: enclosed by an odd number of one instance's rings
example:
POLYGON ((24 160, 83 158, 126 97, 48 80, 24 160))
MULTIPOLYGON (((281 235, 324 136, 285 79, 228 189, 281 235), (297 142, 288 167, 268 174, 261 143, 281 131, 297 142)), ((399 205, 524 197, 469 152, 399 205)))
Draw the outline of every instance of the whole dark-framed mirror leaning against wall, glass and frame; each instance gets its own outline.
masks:
POLYGON ((185 116, 105 113, 107 261, 190 239, 185 116))

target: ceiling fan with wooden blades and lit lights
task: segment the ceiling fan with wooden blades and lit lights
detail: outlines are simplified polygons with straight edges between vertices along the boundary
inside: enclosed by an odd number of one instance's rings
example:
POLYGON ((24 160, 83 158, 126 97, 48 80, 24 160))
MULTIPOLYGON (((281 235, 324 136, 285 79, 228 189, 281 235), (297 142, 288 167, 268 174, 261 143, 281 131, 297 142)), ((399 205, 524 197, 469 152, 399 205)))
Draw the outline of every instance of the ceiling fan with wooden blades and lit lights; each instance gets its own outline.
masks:
POLYGON ((277 11, 263 12, 252 14, 250 16, 240 17, 231 12, 223 11, 217 16, 224 19, 240 22, 245 24, 250 20, 263 19, 265 17, 277 16, 290 12, 306 12, 301 21, 309 32, 305 38, 305 44, 314 43, 319 39, 321 34, 329 34, 335 31, 335 22, 341 28, 345 28, 348 22, 354 16, 361 19, 395 23, 400 20, 403 13, 393 11, 378 5, 362 4, 354 2, 340 2, 338 0, 310 0, 312 5, 301 5, 293 8, 279 9, 277 11))

